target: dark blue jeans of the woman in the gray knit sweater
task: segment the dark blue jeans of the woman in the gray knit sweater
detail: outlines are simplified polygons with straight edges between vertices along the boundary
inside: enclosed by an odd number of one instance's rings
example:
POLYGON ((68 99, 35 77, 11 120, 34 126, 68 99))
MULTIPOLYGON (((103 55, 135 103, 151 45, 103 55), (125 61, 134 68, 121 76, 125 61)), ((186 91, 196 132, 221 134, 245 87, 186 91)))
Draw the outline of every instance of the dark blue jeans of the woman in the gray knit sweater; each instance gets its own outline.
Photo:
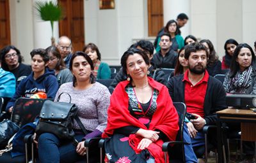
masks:
MULTIPOLYGON (((81 141, 82 134, 75 136, 77 141, 81 141)), ((54 134, 44 133, 38 138, 38 155, 41 163, 44 162, 76 162, 85 160, 85 157, 76 152, 76 146, 71 141, 60 141, 54 134)))

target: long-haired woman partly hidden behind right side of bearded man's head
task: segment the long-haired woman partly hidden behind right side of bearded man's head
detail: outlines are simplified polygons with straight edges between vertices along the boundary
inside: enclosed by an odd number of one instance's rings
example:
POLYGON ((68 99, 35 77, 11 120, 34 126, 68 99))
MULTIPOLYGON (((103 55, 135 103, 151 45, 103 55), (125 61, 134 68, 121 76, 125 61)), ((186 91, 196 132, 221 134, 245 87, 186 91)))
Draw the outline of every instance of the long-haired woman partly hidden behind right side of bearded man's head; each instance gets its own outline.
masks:
POLYGON ((212 42, 209 39, 202 39, 200 43, 207 48, 209 53, 209 59, 207 60, 206 67, 209 75, 215 76, 216 74, 221 74, 221 62, 218 59, 218 56, 216 56, 212 42))

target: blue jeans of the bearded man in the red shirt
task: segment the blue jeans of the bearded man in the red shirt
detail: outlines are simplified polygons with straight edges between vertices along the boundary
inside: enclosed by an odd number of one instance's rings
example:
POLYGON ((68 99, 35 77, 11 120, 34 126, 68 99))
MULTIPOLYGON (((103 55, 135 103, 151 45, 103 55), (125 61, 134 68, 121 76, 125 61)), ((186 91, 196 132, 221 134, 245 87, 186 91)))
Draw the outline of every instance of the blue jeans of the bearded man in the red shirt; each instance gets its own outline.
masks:
POLYGON ((195 152, 193 150, 193 143, 188 133, 188 127, 186 123, 184 123, 184 129, 183 129, 183 140, 187 143, 190 143, 189 145, 184 145, 184 152, 185 152, 185 159, 186 162, 198 162, 195 152))

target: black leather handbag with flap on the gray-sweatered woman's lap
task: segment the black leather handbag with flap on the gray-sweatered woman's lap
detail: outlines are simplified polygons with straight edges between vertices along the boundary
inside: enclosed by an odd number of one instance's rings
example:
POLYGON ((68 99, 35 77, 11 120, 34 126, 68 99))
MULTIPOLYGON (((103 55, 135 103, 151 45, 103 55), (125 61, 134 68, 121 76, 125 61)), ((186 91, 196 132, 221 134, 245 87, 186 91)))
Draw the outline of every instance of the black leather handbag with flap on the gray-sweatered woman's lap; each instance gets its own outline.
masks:
MULTIPOLYGON (((58 97, 57 101, 60 100, 60 96, 58 97)), ((70 97, 69 94, 68 96, 70 97)), ((69 103, 53 102, 49 100, 45 101, 42 106, 42 110, 40 111, 40 120, 36 126, 36 134, 39 136, 44 132, 49 132, 56 135, 60 139, 74 139, 75 133, 72 130, 73 122, 74 118, 76 120, 79 120, 79 118, 76 116, 76 104, 72 104, 70 102, 71 97, 69 103)), ((81 123, 78 124, 80 127, 83 125, 81 123)))

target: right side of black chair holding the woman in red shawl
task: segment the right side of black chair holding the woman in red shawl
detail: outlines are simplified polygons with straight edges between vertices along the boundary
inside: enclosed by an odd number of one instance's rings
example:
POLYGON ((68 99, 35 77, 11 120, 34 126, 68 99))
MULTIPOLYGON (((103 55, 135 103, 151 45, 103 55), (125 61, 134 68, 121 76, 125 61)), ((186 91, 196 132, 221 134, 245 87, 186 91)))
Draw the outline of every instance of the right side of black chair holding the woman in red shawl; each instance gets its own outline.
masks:
POLYGON ((173 103, 173 105, 175 106, 177 113, 179 115, 179 132, 176 136, 175 141, 164 142, 163 144, 164 159, 165 159, 165 162, 167 162, 166 155, 168 153, 170 162, 186 162, 184 145, 189 145, 189 143, 184 142, 183 140, 183 129, 184 129, 184 119, 186 115, 186 105, 180 102, 173 103))

